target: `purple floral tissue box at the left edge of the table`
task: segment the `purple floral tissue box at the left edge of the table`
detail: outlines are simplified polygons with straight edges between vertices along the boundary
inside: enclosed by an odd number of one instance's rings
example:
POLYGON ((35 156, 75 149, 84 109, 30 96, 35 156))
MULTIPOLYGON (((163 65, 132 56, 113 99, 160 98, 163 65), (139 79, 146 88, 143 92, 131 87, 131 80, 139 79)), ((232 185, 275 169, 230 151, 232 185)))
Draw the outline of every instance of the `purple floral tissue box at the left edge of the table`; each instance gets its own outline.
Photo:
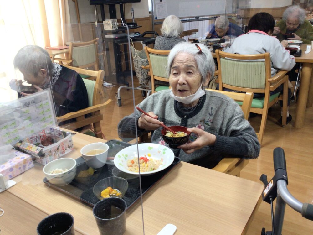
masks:
POLYGON ((8 160, 0 165, 0 173, 4 175, 7 180, 23 173, 34 166, 32 156, 15 150, 16 157, 8 160))

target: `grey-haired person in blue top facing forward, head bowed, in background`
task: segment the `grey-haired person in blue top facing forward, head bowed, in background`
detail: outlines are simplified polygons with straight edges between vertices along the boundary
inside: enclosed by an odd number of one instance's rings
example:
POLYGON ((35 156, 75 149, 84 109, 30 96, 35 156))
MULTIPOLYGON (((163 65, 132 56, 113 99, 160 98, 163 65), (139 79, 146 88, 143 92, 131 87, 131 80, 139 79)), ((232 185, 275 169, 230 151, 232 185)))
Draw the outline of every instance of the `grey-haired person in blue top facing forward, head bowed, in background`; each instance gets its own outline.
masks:
POLYGON ((244 31, 237 24, 230 23, 225 16, 220 16, 216 18, 206 38, 232 38, 241 34, 244 34, 244 31))

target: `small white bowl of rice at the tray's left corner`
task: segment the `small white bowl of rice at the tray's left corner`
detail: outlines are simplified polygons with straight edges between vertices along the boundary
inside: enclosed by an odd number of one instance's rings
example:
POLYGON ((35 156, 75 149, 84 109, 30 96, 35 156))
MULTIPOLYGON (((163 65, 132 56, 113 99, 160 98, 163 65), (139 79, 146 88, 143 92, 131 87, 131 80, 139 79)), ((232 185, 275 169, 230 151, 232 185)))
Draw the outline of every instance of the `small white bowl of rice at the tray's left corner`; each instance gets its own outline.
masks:
POLYGON ((76 175, 76 160, 59 158, 44 166, 43 172, 49 183, 56 186, 68 185, 76 175))

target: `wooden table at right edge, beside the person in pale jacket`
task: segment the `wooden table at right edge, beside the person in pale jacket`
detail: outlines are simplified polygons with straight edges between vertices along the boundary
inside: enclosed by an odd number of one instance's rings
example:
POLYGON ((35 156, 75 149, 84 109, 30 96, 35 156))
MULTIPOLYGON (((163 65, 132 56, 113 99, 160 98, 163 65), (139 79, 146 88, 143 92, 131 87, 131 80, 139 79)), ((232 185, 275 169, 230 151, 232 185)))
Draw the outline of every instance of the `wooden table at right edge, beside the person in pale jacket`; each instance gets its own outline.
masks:
MULTIPOLYGON (((302 50, 300 57, 295 57, 295 61, 302 63, 302 73, 299 95, 297 97, 297 107, 295 113, 295 128, 302 128, 305 119, 306 107, 312 107, 313 103, 313 50, 308 54, 305 54, 306 44, 302 44, 300 49, 302 50)), ((216 54, 212 52, 212 56, 216 58, 216 54)))

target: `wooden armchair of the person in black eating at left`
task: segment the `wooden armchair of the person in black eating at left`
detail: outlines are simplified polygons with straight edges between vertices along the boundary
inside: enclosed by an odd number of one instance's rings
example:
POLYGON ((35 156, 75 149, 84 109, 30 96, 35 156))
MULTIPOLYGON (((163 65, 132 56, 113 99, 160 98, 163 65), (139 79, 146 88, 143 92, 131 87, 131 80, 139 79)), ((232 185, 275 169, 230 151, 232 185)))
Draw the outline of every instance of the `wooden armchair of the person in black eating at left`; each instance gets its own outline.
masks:
POLYGON ((86 125, 93 124, 96 137, 102 138, 103 136, 100 121, 103 120, 103 115, 100 113, 100 110, 103 109, 108 103, 112 101, 109 99, 105 103, 101 103, 102 102, 101 98, 104 98, 102 97, 103 96, 102 82, 104 78, 104 71, 86 70, 71 66, 66 67, 75 70, 79 74, 95 78, 95 81, 83 78, 88 93, 89 107, 81 109, 77 112, 69 112, 63 116, 57 117, 58 123, 75 118, 76 121, 61 126, 69 130, 75 130, 86 125), (89 117, 85 117, 85 114, 88 113, 90 113, 91 115, 89 117))

